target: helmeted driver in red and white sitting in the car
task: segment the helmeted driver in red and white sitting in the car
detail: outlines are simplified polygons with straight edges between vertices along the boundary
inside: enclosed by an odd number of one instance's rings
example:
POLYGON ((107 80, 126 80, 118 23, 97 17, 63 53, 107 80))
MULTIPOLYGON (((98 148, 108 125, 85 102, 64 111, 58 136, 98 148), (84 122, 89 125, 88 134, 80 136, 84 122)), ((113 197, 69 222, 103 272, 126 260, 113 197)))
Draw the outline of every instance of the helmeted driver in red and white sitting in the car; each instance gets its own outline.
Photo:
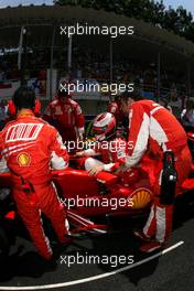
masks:
POLYGON ((89 175, 96 175, 101 171, 116 172, 126 158, 126 140, 116 137, 116 118, 112 114, 98 115, 93 122, 91 132, 97 142, 93 148, 77 152, 77 157, 100 155, 100 160, 87 158, 85 169, 89 175))

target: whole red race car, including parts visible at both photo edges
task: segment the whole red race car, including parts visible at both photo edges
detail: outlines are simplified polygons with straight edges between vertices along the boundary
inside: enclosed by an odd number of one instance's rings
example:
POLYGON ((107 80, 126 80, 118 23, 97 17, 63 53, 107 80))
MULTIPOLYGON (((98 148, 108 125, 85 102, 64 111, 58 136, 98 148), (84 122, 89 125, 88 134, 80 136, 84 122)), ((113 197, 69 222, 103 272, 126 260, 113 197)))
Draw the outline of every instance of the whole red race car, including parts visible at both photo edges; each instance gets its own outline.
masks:
MULTIPOLYGON (((68 169, 52 172, 61 203, 67 211, 72 235, 80 235, 85 231, 105 234, 109 228, 109 217, 133 217, 148 213, 153 193, 148 173, 141 168, 129 171, 130 179, 125 185, 120 183, 118 175, 108 172, 89 176, 87 171, 80 170, 80 164, 82 159, 72 155, 68 169), (106 218, 103 223, 96 219, 101 217, 106 218)), ((11 190, 10 173, 0 175, 0 187, 11 190)), ((193 188, 194 179, 188 177, 184 181, 179 195, 193 188)), ((12 204, 10 195, 4 195, 0 200, 0 256, 9 251, 7 235, 2 226, 4 220, 14 220, 17 211, 13 212, 12 204)))

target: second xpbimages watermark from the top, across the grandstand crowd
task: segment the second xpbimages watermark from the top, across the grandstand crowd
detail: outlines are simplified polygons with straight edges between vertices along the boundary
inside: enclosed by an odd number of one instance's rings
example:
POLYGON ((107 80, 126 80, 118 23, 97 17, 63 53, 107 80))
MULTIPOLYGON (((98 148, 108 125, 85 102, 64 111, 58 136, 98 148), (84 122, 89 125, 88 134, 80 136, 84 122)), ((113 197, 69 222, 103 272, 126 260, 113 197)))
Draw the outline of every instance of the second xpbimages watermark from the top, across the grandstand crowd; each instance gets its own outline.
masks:
POLYGON ((68 95, 71 93, 77 91, 77 93, 103 93, 103 94, 110 94, 110 95, 118 95, 119 93, 123 91, 133 91, 134 84, 133 83, 88 83, 85 80, 85 83, 80 80, 76 80, 74 83, 68 84, 60 84, 60 90, 61 91, 67 91, 68 95))

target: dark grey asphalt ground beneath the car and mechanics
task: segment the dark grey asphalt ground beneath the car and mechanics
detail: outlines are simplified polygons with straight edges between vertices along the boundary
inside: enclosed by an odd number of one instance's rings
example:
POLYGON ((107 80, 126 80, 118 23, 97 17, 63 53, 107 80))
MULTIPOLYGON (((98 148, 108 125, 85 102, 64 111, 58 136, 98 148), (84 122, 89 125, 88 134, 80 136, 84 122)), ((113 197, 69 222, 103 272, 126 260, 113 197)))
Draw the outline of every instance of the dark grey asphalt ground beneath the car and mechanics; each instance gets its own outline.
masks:
MULTIPOLYGON (((166 254, 154 252, 155 258, 152 258, 153 255, 139 252, 140 242, 132 235, 132 228, 141 223, 143 219, 134 219, 133 222, 121 219, 114 227, 116 231, 108 235, 87 235, 82 238, 74 238, 72 245, 66 249, 62 246, 55 246, 55 260, 52 262, 45 262, 36 255, 33 245, 21 227, 20 230, 17 229, 17 241, 11 248, 9 259, 0 266, 0 290, 4 290, 3 288, 22 290, 22 287, 31 287, 31 290, 67 291, 194 290, 194 203, 191 195, 177 203, 174 229, 168 246, 168 248, 171 246, 174 248, 169 249, 166 254), (85 258, 89 255, 98 255, 99 257, 105 255, 133 256, 134 262, 132 265, 120 263, 114 268, 110 263, 74 263, 67 267, 67 263, 62 261, 61 256, 63 258, 64 256, 76 256, 77 252, 85 258), (142 263, 137 266, 137 262, 140 261, 142 263), (127 270, 120 269, 126 266, 129 267, 127 270), (112 272, 111 276, 107 276, 108 272, 112 272), (96 276, 99 277, 96 278, 96 276), (86 278, 87 281, 85 282, 86 278), (84 280, 77 282, 80 279, 84 280), (58 283, 62 285, 57 285, 58 283), (47 284, 52 285, 46 287, 47 284)), ((50 235, 54 245, 54 236, 53 234, 50 235)))

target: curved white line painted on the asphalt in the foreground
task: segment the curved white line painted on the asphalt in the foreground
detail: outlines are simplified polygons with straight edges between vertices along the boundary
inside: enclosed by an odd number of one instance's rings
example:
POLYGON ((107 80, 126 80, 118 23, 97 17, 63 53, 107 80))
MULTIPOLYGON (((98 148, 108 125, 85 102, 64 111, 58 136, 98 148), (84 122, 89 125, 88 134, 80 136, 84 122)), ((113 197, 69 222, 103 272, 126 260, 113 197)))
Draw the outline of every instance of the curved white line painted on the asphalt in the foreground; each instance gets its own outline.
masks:
POLYGON ((151 256, 151 257, 148 257, 143 260, 140 260, 140 261, 137 261, 130 266, 126 266, 126 267, 122 267, 120 269, 117 269, 115 271, 111 271, 111 272, 106 272, 106 273, 101 273, 101 274, 96 274, 96 276, 93 276, 93 277, 88 277, 88 278, 84 278, 84 279, 79 279, 79 280, 74 280, 74 281, 68 281, 68 282, 62 282, 62 283, 55 283, 55 284, 43 284, 43 285, 26 285, 26 287, 14 287, 14 285, 10 285, 10 287, 4 287, 4 285, 0 285, 0 290, 47 290, 47 289, 55 289, 55 288, 63 288, 63 287, 68 287, 68 285, 75 285, 75 284, 82 284, 82 283, 86 283, 86 282, 90 282, 90 281, 96 281, 96 280, 100 280, 103 278, 107 278, 107 277, 110 277, 110 276, 114 276, 114 274, 117 274, 117 273, 120 273, 120 272, 125 272, 127 270, 130 270, 134 267, 138 267, 140 265, 143 265, 148 261, 151 261, 158 257, 161 257, 176 248, 179 248, 181 245, 183 245, 184 241, 179 241, 176 242, 175 245, 151 256))

